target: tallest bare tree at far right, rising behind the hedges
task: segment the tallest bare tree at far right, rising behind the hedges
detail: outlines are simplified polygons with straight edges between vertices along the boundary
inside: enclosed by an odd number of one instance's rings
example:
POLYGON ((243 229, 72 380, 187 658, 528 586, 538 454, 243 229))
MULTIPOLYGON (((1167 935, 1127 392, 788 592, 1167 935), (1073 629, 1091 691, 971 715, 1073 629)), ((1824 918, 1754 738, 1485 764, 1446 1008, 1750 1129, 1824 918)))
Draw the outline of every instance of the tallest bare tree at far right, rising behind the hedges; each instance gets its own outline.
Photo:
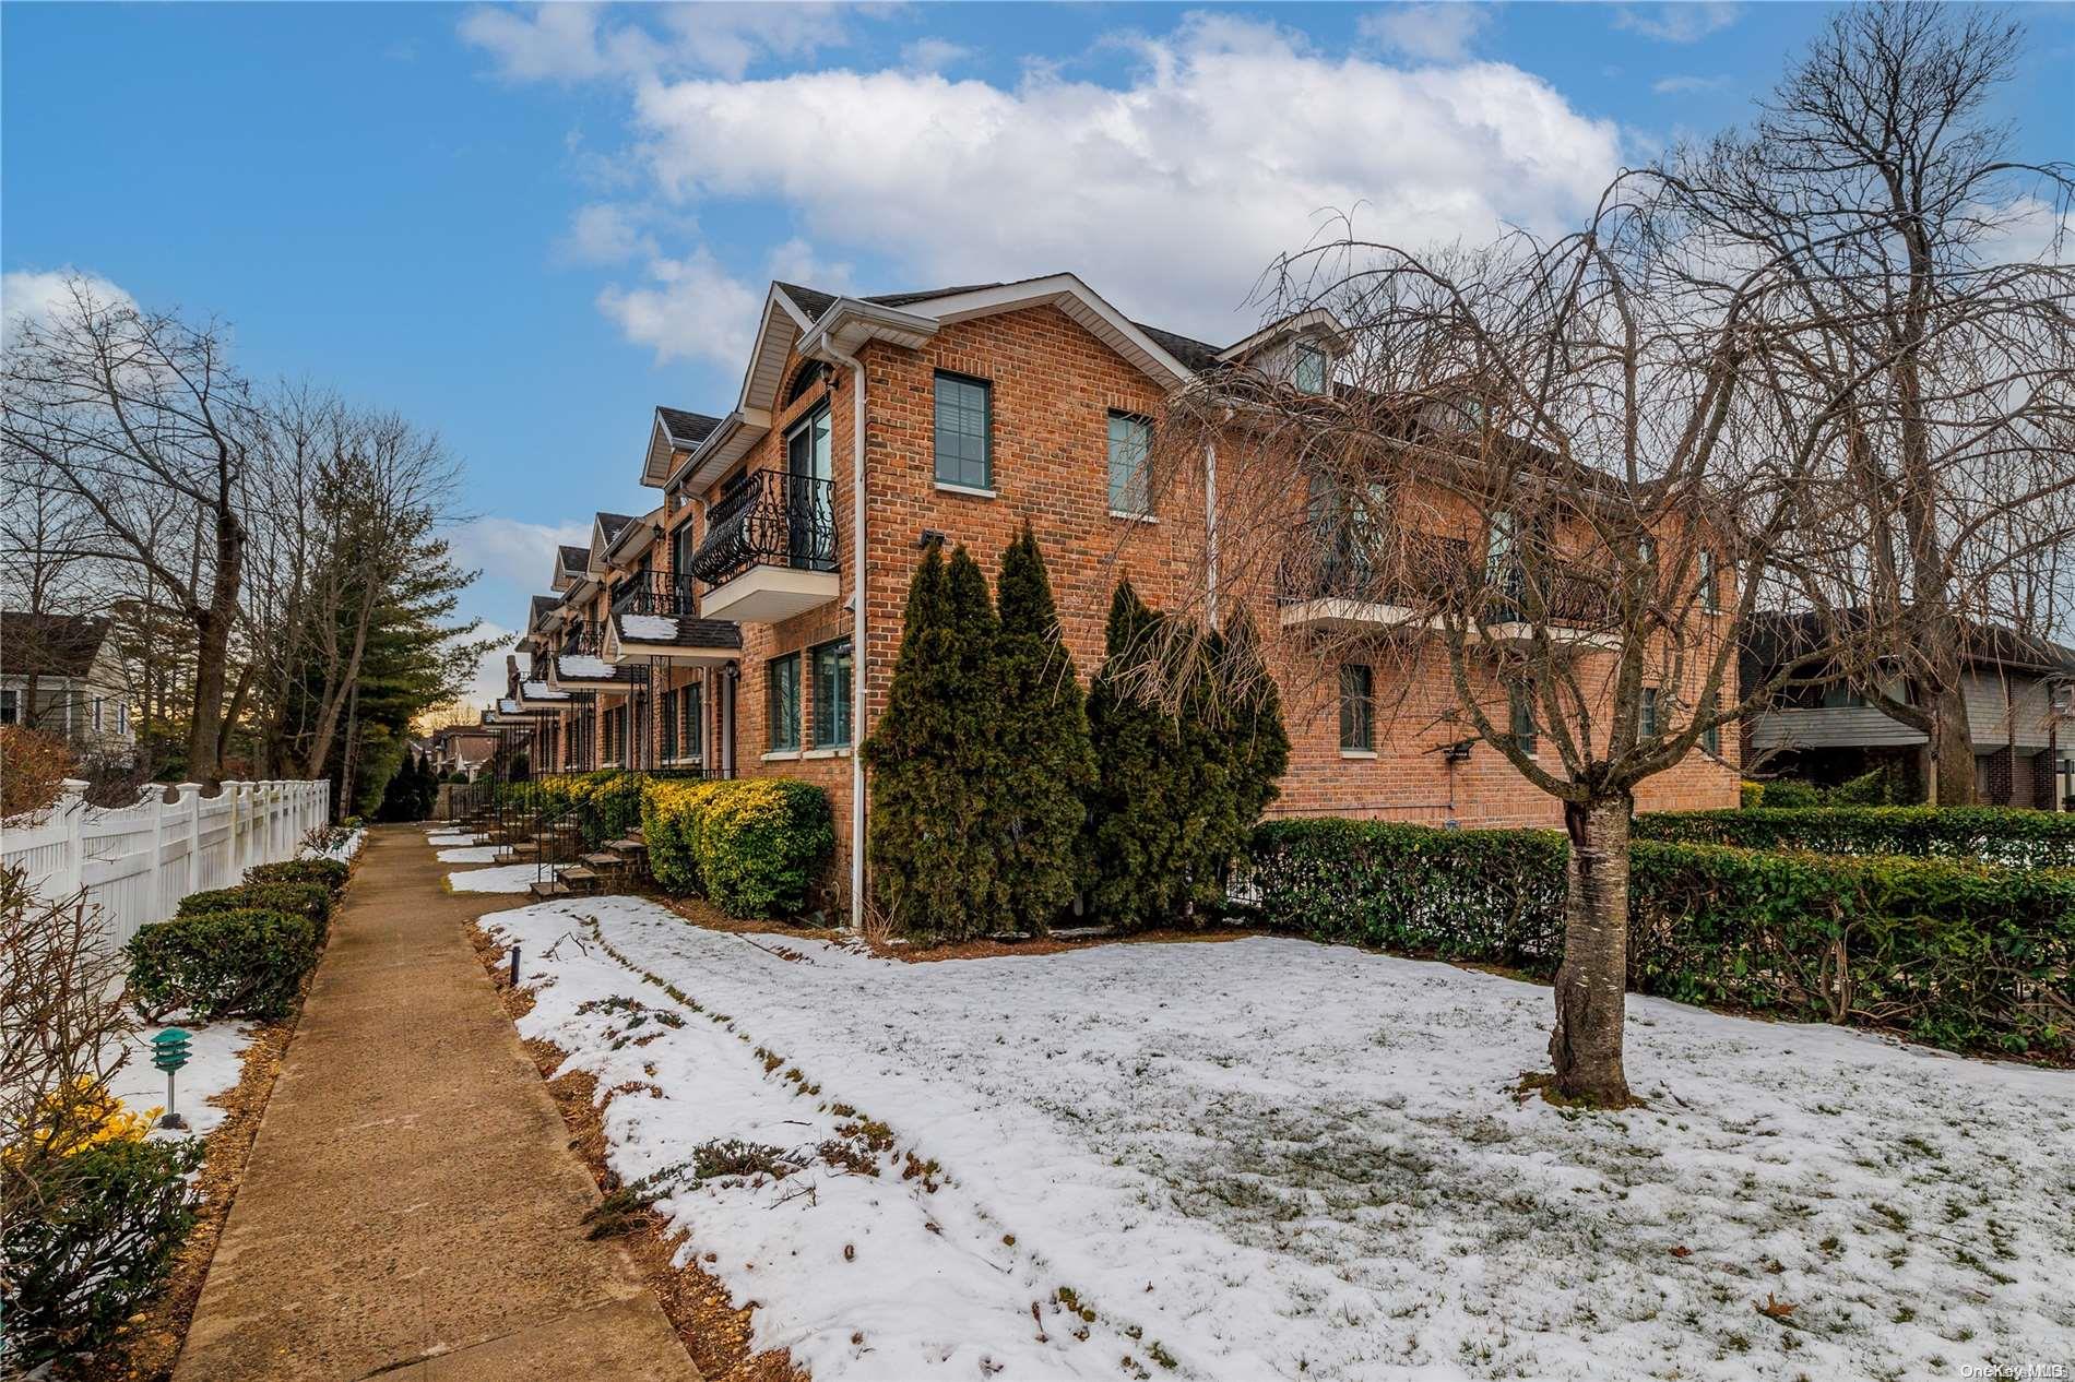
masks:
POLYGON ((1841 8, 1749 133, 1662 166, 1699 234, 1795 274, 1807 351, 1878 365, 1828 459, 1861 542, 1849 608, 1826 612, 1903 629, 1880 666, 1841 670, 1926 735, 1938 803, 1973 799, 1969 627, 2063 612, 2075 537, 2075 322, 2054 264, 2075 164, 2015 158, 1990 118, 2021 42, 1988 8, 1841 8), (1878 674, 1897 664, 1899 683, 1878 674))

